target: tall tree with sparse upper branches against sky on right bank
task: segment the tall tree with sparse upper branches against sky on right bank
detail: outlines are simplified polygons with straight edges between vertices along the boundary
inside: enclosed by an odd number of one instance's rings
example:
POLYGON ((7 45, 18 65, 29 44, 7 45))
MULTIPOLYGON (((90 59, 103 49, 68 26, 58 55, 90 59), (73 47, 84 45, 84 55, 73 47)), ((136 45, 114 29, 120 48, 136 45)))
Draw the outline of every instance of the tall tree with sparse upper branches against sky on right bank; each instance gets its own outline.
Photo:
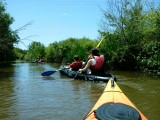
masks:
MULTIPOLYGON (((134 69, 143 39, 143 4, 142 0, 108 0, 104 10, 102 30, 116 37, 117 48, 113 53, 114 64, 121 68, 134 69), (112 31, 111 31, 112 30, 112 31)), ((111 38, 112 39, 112 38, 111 38)), ((112 51, 112 50, 110 50, 112 51)))

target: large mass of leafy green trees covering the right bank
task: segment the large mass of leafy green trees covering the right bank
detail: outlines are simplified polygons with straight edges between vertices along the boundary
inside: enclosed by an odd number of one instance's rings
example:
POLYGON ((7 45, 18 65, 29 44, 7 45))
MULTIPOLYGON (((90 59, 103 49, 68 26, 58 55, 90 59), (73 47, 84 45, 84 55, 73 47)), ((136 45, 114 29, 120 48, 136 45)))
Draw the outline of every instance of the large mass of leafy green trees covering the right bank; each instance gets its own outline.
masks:
POLYGON ((108 0, 100 34, 110 33, 102 49, 121 69, 160 69, 160 7, 142 0, 108 0), (145 9, 144 9, 145 8, 145 9), (148 11, 145 11, 148 10, 148 11), (103 31, 103 32, 102 32, 103 31))

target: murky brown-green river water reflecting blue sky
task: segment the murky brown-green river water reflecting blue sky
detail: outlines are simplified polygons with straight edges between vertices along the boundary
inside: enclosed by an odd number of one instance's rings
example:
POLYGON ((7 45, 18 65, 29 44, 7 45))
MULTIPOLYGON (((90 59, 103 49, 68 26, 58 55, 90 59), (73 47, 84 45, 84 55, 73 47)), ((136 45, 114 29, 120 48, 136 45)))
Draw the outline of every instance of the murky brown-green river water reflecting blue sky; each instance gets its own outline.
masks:
MULTIPOLYGON (((82 120, 106 83, 73 80, 56 64, 13 63, 0 67, 0 120, 82 120)), ((149 120, 160 119, 160 78, 112 71, 117 84, 149 120)))

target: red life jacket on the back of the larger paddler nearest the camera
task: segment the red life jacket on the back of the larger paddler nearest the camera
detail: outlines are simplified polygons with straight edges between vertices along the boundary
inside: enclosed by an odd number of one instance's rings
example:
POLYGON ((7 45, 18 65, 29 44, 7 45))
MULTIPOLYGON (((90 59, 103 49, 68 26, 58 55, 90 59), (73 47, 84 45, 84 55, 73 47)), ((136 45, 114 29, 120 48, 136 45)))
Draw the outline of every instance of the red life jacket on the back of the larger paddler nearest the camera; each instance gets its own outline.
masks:
POLYGON ((96 64, 93 66, 90 66, 90 70, 92 74, 96 74, 97 72, 102 72, 103 71, 103 65, 104 65, 104 56, 93 56, 93 58, 96 61, 96 64))

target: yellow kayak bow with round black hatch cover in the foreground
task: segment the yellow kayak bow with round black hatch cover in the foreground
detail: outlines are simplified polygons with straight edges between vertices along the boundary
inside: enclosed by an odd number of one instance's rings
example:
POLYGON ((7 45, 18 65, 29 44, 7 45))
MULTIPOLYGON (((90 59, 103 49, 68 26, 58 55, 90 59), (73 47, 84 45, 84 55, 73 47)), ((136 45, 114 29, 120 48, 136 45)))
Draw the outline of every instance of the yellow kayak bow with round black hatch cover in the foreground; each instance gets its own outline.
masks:
POLYGON ((113 79, 85 116, 85 120, 148 120, 127 98, 113 79))

